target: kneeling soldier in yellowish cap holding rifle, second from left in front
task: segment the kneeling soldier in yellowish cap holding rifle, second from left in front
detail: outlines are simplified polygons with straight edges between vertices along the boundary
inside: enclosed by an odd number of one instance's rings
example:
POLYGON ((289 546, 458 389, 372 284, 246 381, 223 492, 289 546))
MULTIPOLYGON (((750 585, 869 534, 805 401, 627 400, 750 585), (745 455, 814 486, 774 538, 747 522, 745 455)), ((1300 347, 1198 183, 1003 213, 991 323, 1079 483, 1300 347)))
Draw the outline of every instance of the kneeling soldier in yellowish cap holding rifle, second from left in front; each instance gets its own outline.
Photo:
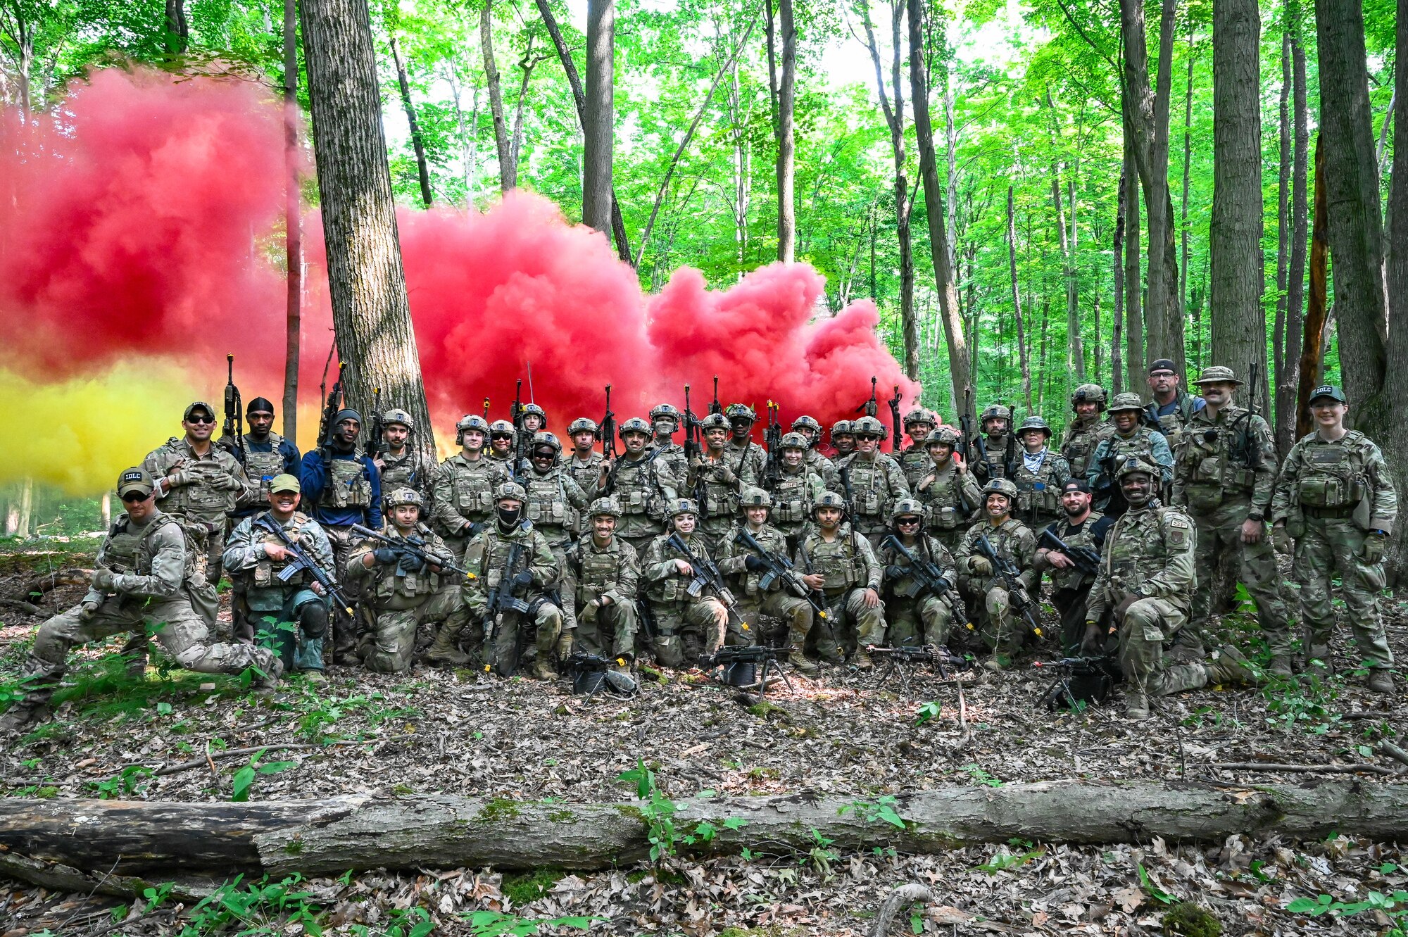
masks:
POLYGON ((265 523, 276 523, 290 540, 303 544, 324 573, 335 578, 328 535, 317 521, 298 511, 300 497, 296 477, 275 476, 269 483, 268 509, 235 525, 225 546, 224 561, 251 618, 262 622, 262 629, 270 632, 283 668, 297 667, 311 682, 324 682, 322 639, 328 633, 328 597, 308 570, 301 570, 289 580, 279 578, 293 553, 279 535, 265 528, 265 523), (273 619, 272 623, 269 619, 273 619), (280 626, 286 625, 291 625, 294 633, 280 632, 280 626))

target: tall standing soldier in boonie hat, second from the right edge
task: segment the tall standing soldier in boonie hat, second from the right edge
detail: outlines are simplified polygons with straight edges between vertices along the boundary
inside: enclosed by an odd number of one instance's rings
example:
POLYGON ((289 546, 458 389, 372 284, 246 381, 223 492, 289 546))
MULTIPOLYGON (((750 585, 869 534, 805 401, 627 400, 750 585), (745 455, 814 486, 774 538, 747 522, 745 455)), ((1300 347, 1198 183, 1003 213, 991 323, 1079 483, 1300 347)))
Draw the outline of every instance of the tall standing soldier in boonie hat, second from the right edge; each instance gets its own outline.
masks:
POLYGON ((1229 367, 1205 367, 1198 378, 1207 405, 1183 428, 1173 481, 1173 504, 1197 528, 1193 629, 1201 636, 1212 616, 1218 568, 1236 570, 1256 602, 1257 625, 1271 650, 1270 670, 1291 675, 1291 616, 1281 601, 1281 575, 1267 537, 1266 516, 1276 488, 1271 428, 1232 402, 1242 383, 1229 367))

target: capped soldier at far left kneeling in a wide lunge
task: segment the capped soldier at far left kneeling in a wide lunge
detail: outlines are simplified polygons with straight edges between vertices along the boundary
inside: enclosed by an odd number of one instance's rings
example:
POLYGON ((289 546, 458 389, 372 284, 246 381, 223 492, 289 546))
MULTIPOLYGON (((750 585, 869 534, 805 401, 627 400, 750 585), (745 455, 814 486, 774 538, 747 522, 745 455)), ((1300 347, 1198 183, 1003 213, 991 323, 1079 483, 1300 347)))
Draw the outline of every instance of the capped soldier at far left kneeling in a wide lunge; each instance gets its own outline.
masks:
POLYGON ((144 468, 118 476, 117 497, 127 514, 99 547, 83 601, 39 626, 24 667, 25 694, 0 718, 0 736, 48 718, 70 649, 134 629, 155 632, 162 649, 186 670, 238 674, 253 667, 260 687, 277 685, 283 665, 272 650, 210 640, 210 629, 190 604, 196 563, 186 533, 156 508, 153 488, 144 468))

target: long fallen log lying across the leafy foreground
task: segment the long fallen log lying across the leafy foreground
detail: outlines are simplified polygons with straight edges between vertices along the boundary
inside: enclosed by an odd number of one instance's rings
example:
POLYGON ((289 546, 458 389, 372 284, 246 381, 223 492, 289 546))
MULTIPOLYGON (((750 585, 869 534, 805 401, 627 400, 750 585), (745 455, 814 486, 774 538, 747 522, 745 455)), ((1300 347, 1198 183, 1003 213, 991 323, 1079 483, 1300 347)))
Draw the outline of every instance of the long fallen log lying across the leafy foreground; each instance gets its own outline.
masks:
MULTIPOLYGON (((811 792, 676 802, 677 836, 710 823, 693 854, 805 854, 812 830, 838 848, 934 853, 1011 837, 1131 843, 1153 836, 1222 841, 1233 833, 1319 839, 1332 831, 1380 841, 1408 839, 1408 785, 1311 781, 1231 785, 1150 781, 1050 781, 953 786, 886 801, 904 829, 863 799, 811 792), (845 810, 845 812, 842 812, 845 810), (729 823, 728 820, 742 820, 729 823), (738 827, 738 829, 729 829, 738 827)), ((418 795, 351 795, 256 803, 0 799, 0 872, 25 881, 25 857, 108 875, 237 872, 284 877, 346 869, 594 869, 648 857, 650 806, 534 803, 418 795)))

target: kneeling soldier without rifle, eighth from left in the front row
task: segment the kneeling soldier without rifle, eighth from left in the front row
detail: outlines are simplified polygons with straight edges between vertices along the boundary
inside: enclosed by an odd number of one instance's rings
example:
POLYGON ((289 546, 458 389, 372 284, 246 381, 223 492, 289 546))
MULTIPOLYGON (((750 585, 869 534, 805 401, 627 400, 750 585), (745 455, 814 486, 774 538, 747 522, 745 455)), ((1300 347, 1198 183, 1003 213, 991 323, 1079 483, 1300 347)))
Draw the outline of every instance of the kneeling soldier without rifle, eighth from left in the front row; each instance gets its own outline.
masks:
MULTIPOLYGON (((898 466, 895 466, 898 470, 898 466)), ((814 629, 817 653, 831 664, 849 656, 870 670, 870 647, 884 644, 884 602, 880 601, 880 563, 870 540, 843 523, 846 502, 825 491, 812 505, 815 526, 797 546, 797 566, 807 588, 821 592, 826 619, 814 629)))

